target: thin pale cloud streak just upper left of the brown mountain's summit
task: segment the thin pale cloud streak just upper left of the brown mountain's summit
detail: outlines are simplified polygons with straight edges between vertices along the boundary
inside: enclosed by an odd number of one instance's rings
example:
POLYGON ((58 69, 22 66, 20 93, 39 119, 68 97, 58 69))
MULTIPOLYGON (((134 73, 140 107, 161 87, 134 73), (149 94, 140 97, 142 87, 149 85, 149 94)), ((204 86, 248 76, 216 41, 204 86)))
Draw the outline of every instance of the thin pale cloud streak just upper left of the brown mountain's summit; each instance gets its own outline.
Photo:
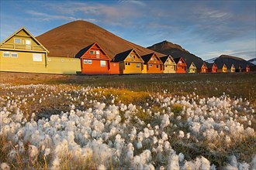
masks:
POLYGON ((33 17, 36 17, 36 19, 39 19, 41 21, 51 21, 51 20, 67 20, 67 21, 74 21, 76 18, 72 16, 65 16, 65 15, 50 15, 43 12, 36 12, 33 10, 27 10, 26 13, 33 15, 33 17))

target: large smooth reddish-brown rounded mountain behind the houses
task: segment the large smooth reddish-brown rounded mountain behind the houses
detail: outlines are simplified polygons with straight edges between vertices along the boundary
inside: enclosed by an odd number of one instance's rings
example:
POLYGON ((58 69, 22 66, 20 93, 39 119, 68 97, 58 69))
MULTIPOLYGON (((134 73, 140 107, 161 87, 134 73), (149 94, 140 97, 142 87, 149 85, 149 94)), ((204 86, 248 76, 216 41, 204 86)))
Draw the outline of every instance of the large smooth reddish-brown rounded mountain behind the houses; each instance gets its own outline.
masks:
MULTIPOLYGON (((153 53, 150 49, 126 41, 91 22, 81 20, 59 26, 37 36, 36 39, 50 51, 49 56, 74 57, 80 49, 93 42, 97 42, 110 58, 132 48, 136 49, 140 55, 153 53)), ((161 53, 158 55, 164 56, 161 53)))

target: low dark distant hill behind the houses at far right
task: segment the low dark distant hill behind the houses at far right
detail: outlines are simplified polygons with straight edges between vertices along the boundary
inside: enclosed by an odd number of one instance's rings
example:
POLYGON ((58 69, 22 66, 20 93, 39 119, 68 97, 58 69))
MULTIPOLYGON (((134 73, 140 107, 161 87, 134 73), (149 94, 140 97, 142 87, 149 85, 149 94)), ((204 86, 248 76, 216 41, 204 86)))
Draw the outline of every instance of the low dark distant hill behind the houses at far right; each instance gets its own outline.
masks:
POLYGON ((228 55, 221 55, 219 57, 208 59, 206 60, 208 63, 216 63, 216 65, 219 67, 223 66, 223 63, 226 64, 227 68, 230 68, 232 64, 237 68, 238 66, 242 66, 242 68, 245 68, 248 66, 254 66, 253 63, 248 62, 247 60, 241 59, 237 56, 228 56, 228 55))

